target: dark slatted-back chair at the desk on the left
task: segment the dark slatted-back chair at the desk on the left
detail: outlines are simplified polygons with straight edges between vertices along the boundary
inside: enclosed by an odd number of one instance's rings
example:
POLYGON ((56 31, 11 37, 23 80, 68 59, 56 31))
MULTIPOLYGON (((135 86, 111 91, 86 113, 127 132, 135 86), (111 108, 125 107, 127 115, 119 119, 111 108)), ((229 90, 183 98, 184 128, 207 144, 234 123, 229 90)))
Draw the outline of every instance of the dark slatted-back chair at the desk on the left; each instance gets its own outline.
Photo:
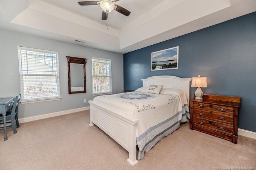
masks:
MULTIPOLYGON (((13 133, 17 133, 16 125, 17 125, 17 128, 20 127, 19 120, 18 120, 18 106, 20 102, 20 97, 21 97, 21 94, 15 97, 14 103, 12 106, 12 111, 6 112, 6 123, 11 123, 11 125, 7 126, 6 128, 12 128, 13 133)), ((4 124, 3 120, 4 120, 4 117, 2 114, 0 114, 0 121, 1 121, 0 124, 4 124)), ((4 129, 4 127, 1 127, 0 129, 4 129)))

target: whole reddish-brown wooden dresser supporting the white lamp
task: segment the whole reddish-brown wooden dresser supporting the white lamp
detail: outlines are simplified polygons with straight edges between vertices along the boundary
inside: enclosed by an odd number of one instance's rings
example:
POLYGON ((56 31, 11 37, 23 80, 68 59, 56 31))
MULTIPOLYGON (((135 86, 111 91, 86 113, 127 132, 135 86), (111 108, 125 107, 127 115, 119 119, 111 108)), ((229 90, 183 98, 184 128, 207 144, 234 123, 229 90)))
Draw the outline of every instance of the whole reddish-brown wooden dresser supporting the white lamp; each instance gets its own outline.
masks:
POLYGON ((203 100, 190 99, 190 129, 237 144, 240 105, 241 97, 203 95, 203 100))

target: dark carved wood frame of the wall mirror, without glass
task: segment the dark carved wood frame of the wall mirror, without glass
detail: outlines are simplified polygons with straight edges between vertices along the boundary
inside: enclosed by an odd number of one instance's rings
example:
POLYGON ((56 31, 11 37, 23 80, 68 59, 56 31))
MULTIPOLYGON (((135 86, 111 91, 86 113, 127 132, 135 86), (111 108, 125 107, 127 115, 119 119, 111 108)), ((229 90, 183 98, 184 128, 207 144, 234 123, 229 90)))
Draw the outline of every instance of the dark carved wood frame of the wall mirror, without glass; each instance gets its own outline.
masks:
POLYGON ((79 58, 79 57, 71 57, 66 56, 68 60, 68 94, 73 93, 86 93, 86 71, 85 71, 85 65, 87 63, 86 58, 79 58), (84 68, 84 90, 83 91, 71 91, 71 77, 70 77, 70 63, 76 63, 76 64, 83 64, 84 68))

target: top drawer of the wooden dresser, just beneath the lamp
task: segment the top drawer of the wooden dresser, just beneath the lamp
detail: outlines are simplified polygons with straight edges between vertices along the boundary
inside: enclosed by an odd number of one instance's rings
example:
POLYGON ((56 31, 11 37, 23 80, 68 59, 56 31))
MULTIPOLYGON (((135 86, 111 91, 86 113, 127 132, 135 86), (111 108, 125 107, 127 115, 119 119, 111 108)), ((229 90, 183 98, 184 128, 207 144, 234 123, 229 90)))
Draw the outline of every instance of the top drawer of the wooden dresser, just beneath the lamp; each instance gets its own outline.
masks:
POLYGON ((200 102, 194 102, 194 109, 206 109, 206 110, 212 110, 219 113, 228 113, 232 114, 234 113, 233 107, 228 106, 221 106, 221 105, 211 105, 207 103, 200 103, 200 102))

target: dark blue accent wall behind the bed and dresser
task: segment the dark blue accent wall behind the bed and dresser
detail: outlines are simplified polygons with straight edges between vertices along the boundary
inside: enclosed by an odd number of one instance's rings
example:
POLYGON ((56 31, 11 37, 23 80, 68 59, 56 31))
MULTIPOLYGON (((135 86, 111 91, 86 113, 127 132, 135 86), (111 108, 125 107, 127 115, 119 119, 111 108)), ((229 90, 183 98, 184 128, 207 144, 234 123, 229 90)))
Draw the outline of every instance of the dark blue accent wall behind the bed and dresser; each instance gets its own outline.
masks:
POLYGON ((242 97, 238 128, 256 132, 256 12, 124 54, 125 90, 154 75, 199 74, 207 77, 204 94, 242 97), (151 71, 151 53, 176 46, 179 68, 151 71))

